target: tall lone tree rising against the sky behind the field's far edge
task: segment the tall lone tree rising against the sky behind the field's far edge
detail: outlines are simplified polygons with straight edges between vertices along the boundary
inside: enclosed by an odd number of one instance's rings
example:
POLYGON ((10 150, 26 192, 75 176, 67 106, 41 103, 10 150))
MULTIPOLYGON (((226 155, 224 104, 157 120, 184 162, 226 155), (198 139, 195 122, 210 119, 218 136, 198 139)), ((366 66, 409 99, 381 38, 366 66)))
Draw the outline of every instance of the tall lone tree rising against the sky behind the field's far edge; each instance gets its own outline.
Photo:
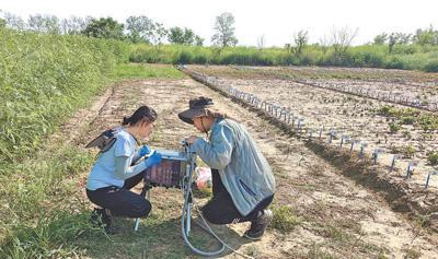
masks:
POLYGON ((238 39, 234 36, 234 16, 231 13, 224 12, 216 17, 215 34, 211 42, 222 48, 235 46, 238 39))

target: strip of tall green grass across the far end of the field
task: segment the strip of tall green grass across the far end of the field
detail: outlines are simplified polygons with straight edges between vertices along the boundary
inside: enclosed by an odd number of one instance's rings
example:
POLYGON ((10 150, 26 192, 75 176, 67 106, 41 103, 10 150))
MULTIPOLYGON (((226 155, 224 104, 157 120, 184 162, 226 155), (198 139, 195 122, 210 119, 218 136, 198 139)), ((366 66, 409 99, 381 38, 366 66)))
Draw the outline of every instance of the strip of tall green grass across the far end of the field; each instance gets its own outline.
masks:
POLYGON ((284 48, 215 47, 138 44, 129 56, 132 62, 198 63, 241 66, 339 66, 357 68, 389 68, 438 71, 438 47, 396 45, 392 52, 385 45, 350 47, 347 52, 335 55, 332 47, 307 46, 300 55, 284 48))

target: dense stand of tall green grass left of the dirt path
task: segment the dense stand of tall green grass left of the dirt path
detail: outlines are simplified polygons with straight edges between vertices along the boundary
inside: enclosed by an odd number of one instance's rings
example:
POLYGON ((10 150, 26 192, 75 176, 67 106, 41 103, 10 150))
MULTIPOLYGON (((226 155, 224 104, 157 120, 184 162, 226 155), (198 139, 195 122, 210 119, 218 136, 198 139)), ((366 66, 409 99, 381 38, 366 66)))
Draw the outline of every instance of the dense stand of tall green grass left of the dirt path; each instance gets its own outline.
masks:
POLYGON ((0 165, 35 154, 128 54, 124 43, 82 36, 0 30, 0 165))

